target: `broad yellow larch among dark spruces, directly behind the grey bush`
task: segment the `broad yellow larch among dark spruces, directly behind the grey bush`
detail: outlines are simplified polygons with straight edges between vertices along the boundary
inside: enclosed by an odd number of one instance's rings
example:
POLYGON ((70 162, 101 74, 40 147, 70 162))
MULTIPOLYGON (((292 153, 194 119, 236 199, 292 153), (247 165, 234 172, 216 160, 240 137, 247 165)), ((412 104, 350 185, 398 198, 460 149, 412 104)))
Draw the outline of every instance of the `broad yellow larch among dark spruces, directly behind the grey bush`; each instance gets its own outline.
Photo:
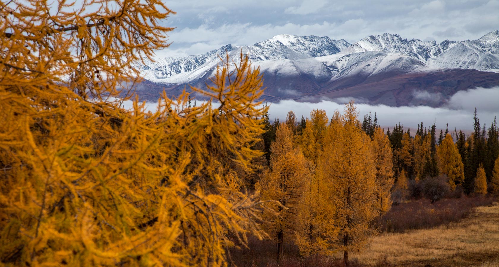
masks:
POLYGON ((451 190, 454 190, 456 185, 464 182, 465 167, 451 134, 447 133, 442 143, 437 147, 437 158, 440 173, 447 175, 449 186, 451 190))

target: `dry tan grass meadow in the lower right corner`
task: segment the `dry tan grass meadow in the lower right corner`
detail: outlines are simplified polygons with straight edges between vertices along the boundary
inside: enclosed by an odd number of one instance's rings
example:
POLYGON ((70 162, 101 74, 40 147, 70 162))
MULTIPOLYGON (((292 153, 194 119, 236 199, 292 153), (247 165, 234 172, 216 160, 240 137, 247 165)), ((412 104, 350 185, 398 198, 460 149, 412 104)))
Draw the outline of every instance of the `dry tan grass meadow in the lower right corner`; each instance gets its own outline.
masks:
POLYGON ((469 218, 434 229, 384 233, 357 255, 369 266, 499 266, 499 203, 478 207, 469 218))

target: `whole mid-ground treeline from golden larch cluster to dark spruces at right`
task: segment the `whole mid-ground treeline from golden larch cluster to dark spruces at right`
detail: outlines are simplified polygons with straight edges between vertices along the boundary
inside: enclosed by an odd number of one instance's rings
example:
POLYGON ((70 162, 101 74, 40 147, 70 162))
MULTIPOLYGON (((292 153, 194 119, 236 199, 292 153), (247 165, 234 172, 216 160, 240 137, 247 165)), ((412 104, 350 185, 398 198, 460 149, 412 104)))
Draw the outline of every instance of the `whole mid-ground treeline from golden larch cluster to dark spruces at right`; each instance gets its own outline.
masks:
POLYGON ((376 114, 357 118, 353 103, 328 119, 323 110, 270 124, 262 134, 268 167, 255 188, 263 200, 280 204, 265 229, 277 242, 294 242, 304 256, 362 249, 375 232, 371 220, 393 204, 427 197, 432 203, 463 194, 499 193, 499 136, 496 120, 486 129, 475 111, 475 132, 440 131, 418 125, 415 135, 401 124, 386 133, 376 114), (456 138, 454 142, 453 137, 456 138), (273 217, 278 213, 280 217, 273 217))

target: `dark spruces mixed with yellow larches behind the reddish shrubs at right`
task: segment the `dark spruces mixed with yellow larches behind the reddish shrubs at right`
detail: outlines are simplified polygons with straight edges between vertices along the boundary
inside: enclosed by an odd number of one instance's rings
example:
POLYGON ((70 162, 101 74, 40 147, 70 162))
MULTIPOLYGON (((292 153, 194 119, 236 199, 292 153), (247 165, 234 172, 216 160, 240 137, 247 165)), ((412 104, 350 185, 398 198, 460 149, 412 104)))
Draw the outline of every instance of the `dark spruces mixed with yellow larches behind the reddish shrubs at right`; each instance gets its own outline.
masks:
MULTIPOLYGON (((494 175, 499 156, 496 118, 490 127, 481 126, 475 110, 472 123, 474 132, 469 135, 457 129, 450 132, 448 124, 445 132, 437 134, 435 123, 428 128, 419 124, 414 136, 400 124, 388 130, 395 176, 411 183, 440 177, 448 182, 451 191, 465 194, 499 193, 499 173, 494 175)), ((370 125, 369 120, 366 125, 370 125)), ((413 186, 412 196, 417 194, 413 186)))

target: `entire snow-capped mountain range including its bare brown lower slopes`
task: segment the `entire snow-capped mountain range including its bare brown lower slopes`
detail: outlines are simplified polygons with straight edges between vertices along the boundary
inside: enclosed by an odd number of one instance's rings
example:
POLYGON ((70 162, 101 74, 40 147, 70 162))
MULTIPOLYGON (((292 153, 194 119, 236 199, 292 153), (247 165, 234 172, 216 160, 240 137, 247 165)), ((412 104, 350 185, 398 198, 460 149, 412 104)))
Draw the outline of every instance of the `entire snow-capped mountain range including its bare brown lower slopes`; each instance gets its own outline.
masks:
POLYGON ((229 44, 201 55, 167 57, 134 67, 151 84, 173 94, 186 85, 204 86, 215 74, 220 57, 229 54, 237 61, 241 53, 260 67, 269 101, 352 96, 378 104, 419 105, 424 103, 407 92, 445 92, 440 102, 432 104, 438 106, 458 90, 499 85, 499 31, 478 40, 440 43, 389 33, 354 44, 281 34, 250 46, 229 44))

